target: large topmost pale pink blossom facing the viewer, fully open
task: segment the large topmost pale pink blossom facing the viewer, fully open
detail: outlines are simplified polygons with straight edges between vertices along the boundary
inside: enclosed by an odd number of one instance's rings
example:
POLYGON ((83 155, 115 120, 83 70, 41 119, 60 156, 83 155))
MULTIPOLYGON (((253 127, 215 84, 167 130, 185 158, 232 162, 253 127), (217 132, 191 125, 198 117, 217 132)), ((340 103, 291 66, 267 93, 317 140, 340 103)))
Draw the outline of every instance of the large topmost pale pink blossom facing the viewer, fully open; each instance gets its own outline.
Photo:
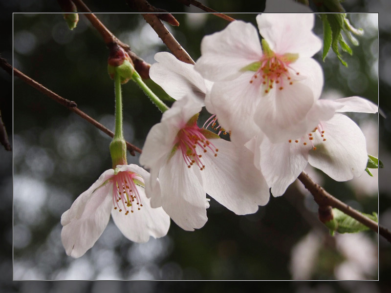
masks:
POLYGON ((302 133, 302 119, 323 86, 322 68, 311 58, 322 47, 312 14, 261 14, 256 20, 262 48, 252 24, 233 21, 203 38, 195 64, 214 82, 210 99, 219 124, 239 144, 259 128, 273 142, 302 133))

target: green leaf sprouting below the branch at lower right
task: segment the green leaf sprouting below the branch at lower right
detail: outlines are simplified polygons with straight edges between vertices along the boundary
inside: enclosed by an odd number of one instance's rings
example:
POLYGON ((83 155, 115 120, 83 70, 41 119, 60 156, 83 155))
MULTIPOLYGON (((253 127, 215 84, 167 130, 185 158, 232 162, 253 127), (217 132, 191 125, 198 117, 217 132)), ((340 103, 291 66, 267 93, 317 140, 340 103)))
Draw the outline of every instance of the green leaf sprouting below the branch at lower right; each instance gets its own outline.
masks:
MULTIPOLYGON (((335 231, 338 233, 357 233, 360 231, 369 230, 367 226, 361 224, 359 221, 353 219, 348 216, 346 213, 340 211, 339 209, 332 209, 332 213, 334 219, 325 223, 328 229, 330 230, 330 234, 333 235, 335 231)), ((379 218, 377 213, 372 212, 372 214, 362 213, 364 216, 372 219, 376 223, 379 222, 379 218)))

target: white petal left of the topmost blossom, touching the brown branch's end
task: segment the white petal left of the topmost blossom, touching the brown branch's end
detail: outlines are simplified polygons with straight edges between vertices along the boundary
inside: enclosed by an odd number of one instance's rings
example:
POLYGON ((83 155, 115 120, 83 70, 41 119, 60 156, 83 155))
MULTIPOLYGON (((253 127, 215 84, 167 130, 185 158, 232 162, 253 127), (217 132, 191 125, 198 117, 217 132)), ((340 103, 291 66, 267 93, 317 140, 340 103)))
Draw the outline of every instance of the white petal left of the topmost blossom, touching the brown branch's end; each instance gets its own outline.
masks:
POLYGON ((152 64, 150 77, 166 93, 175 100, 191 94, 203 103, 206 86, 202 76, 195 71, 194 65, 181 62, 168 52, 156 53, 155 60, 158 63, 152 64))

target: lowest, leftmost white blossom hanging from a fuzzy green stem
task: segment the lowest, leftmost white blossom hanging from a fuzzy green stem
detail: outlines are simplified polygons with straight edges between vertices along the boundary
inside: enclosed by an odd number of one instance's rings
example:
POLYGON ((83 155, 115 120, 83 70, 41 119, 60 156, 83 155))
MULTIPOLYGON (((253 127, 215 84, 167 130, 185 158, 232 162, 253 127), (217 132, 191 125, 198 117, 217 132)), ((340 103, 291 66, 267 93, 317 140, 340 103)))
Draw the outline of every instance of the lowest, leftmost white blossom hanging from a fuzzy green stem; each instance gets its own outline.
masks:
POLYGON ((103 172, 61 216, 61 240, 66 254, 80 257, 98 240, 109 223, 134 242, 167 234, 170 217, 162 208, 151 208, 144 191, 150 174, 137 165, 118 165, 103 172))

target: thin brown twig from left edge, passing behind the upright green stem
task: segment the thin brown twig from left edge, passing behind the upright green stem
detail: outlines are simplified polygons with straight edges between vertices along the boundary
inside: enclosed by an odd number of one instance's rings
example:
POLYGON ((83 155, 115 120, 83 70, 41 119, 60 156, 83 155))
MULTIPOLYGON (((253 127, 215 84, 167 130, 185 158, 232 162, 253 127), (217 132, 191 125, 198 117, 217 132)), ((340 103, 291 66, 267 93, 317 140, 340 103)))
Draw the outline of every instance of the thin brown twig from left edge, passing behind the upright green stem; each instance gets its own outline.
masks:
MULTIPOLYGON (((104 133, 106 133, 107 135, 111 136, 111 137, 114 137, 114 133, 109 130, 109 128, 103 126, 102 124, 100 124, 98 121, 96 121, 95 119, 91 118, 90 116, 88 116, 85 112, 83 112, 82 110, 80 110, 76 103, 73 102, 73 101, 69 101, 67 99, 64 99, 63 97, 59 96, 58 94, 52 92, 50 89, 47 89, 46 87, 44 87, 42 84, 39 84, 38 82, 36 82, 35 80, 33 80, 32 78, 28 77, 27 75, 25 75, 24 73, 22 73, 21 71, 19 71, 18 69, 16 68, 12 68, 12 66, 10 64, 8 64, 4 59, 0 59, 0 66, 2 68, 5 69, 5 71, 7 71, 8 73, 11 73, 12 75, 12 72, 14 72, 14 74, 19 77, 23 82, 25 82, 26 84, 29 84, 31 85, 32 87, 34 87, 35 89, 39 90, 40 92, 42 92, 44 95, 48 96, 49 98, 53 99, 54 101, 56 101, 57 103, 65 106, 66 108, 68 108, 70 111, 76 113, 77 115, 79 115, 80 117, 82 117, 83 119, 87 120, 89 123, 91 123, 93 126, 99 128, 100 130, 102 130, 104 133), (11 70, 10 70, 11 69, 11 70)), ((129 142, 126 142, 126 146, 130 152, 130 154, 132 156, 135 155, 134 151, 137 151, 139 153, 141 153, 141 149, 138 148, 137 146, 133 146, 132 144, 130 144, 129 142)))

